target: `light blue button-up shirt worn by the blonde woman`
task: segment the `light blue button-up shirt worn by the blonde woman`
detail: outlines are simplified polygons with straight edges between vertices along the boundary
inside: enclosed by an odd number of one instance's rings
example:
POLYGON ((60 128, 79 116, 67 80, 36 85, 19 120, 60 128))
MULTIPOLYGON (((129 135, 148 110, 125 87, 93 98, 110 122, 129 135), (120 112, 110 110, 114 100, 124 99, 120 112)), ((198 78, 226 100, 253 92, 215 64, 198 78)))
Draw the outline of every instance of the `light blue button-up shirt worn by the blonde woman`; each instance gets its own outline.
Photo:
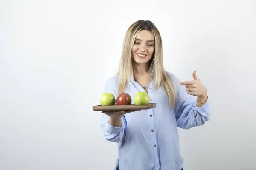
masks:
MULTIPOLYGON (((177 127, 189 129, 203 125, 209 120, 209 102, 197 107, 194 96, 187 94, 179 79, 169 73, 177 88, 174 108, 169 107, 169 100, 163 88, 155 89, 154 78, 150 82, 148 95, 156 108, 127 113, 122 116, 121 127, 112 127, 109 116, 102 113, 101 127, 104 138, 118 145, 116 166, 120 170, 180 170, 183 157, 180 155, 177 127)), ((108 79, 105 93, 117 97, 118 78, 108 79)), ((145 91, 134 79, 130 79, 124 92, 133 96, 138 91, 145 91)))

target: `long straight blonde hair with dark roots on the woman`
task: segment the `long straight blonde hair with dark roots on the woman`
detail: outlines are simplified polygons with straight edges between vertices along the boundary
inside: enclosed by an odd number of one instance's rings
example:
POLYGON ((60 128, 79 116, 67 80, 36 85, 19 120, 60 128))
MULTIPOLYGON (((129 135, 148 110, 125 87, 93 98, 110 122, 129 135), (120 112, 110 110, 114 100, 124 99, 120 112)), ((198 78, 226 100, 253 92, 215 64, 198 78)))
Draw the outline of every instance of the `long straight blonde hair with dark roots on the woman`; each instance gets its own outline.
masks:
POLYGON ((123 46, 122 46, 122 56, 119 65, 119 85, 118 94, 122 93, 131 77, 133 77, 132 68, 132 48, 134 45, 134 40, 141 30, 150 31, 154 35, 154 53, 151 58, 149 71, 152 72, 154 77, 154 86, 158 88, 162 86, 168 96, 169 106, 173 107, 175 105, 175 86, 169 76, 168 72, 163 67, 163 50, 162 50, 162 38, 157 27, 149 20, 138 20, 133 23, 126 31, 123 46))

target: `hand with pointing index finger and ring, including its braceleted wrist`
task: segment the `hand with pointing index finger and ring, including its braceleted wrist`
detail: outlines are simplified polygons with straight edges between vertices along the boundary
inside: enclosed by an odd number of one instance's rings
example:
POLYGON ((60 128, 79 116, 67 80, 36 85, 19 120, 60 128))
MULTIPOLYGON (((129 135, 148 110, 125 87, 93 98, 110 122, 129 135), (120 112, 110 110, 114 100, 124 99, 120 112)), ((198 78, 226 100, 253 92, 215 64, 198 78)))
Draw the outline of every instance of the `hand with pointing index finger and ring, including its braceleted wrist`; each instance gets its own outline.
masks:
POLYGON ((196 71, 192 74, 193 80, 180 82, 178 85, 185 85, 185 89, 188 94, 193 96, 207 97, 207 89, 201 82, 201 80, 196 76, 196 71))

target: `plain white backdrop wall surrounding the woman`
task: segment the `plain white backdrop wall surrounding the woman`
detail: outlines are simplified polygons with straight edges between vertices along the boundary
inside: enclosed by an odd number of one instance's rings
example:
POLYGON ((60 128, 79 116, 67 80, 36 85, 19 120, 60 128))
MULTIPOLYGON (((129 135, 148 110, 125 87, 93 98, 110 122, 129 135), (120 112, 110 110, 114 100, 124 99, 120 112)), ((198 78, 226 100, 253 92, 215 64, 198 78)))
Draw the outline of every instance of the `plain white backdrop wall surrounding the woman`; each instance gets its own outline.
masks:
POLYGON ((164 66, 207 87, 211 117, 179 130, 184 170, 254 169, 256 1, 1 0, 0 169, 113 170, 99 105, 127 28, 151 20, 164 66))

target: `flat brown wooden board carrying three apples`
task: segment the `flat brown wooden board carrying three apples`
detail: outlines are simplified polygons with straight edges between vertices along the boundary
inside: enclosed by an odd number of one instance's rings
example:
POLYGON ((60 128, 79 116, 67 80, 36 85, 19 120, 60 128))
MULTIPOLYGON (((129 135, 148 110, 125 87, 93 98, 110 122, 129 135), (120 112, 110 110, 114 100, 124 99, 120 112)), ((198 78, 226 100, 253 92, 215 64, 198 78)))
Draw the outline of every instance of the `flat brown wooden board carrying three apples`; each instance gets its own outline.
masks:
POLYGON ((93 111, 131 111, 131 110, 146 110, 156 107, 156 103, 149 103, 148 105, 113 105, 113 106, 93 106, 93 111))

